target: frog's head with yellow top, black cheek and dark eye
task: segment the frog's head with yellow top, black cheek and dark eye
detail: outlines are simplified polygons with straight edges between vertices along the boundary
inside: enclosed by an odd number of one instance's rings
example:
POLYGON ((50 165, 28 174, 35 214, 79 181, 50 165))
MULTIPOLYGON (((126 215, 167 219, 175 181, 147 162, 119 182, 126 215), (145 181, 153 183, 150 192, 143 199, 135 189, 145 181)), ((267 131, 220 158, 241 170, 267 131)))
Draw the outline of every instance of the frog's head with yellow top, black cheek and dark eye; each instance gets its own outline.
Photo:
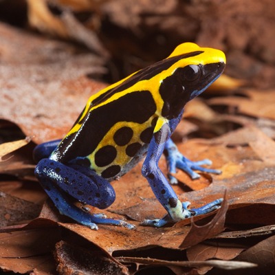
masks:
POLYGON ((184 105, 219 78, 225 68, 223 52, 194 43, 177 46, 165 61, 172 64, 164 73, 159 94, 164 100, 162 115, 167 118, 179 115, 184 105))

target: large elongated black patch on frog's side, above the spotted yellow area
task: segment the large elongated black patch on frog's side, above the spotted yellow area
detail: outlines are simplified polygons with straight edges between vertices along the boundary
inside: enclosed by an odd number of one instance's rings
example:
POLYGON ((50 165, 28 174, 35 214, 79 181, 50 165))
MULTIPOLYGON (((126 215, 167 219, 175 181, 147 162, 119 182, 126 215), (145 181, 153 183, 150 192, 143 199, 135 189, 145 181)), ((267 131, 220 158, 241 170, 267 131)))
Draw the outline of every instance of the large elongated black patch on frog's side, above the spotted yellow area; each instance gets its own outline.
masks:
POLYGON ((59 162, 87 157, 96 150, 103 137, 118 122, 144 123, 157 107, 150 91, 133 91, 85 115, 76 133, 67 135, 55 151, 59 162))

